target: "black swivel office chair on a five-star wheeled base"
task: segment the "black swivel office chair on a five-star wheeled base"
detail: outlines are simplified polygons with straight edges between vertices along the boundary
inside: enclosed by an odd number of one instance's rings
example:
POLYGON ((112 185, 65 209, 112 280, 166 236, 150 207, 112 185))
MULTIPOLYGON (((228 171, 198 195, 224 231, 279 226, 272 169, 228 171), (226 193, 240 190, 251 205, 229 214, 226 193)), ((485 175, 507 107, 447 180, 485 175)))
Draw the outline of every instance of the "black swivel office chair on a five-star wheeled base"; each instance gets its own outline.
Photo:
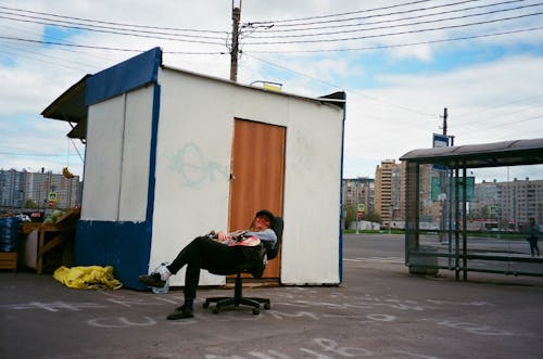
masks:
POLYGON ((237 266, 233 270, 207 269, 210 273, 218 275, 236 274, 236 284, 233 287, 233 297, 205 298, 205 302, 203 304, 204 308, 209 308, 211 303, 215 303, 213 312, 216 315, 220 311, 222 308, 229 306, 239 307, 240 305, 245 305, 253 307, 253 315, 258 315, 261 312, 261 305, 263 305, 264 309, 272 308, 269 298, 243 297, 242 293, 243 282, 241 280, 241 273, 251 273, 254 278, 262 278, 262 272, 264 271, 264 265, 263 265, 264 254, 266 254, 268 260, 277 257, 282 240, 282 227, 283 227, 282 218, 275 217, 272 229, 277 235, 277 244, 274 247, 268 247, 268 248, 264 246, 260 256, 261 258, 258 260, 242 262, 239 266, 237 266))

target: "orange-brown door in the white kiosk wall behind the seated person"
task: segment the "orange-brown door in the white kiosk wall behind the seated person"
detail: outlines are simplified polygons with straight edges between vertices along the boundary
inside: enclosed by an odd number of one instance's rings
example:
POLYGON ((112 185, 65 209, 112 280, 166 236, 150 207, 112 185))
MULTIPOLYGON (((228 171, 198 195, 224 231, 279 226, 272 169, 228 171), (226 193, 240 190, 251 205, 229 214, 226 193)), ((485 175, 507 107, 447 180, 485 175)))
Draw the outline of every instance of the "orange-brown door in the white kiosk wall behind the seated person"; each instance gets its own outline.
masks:
MULTIPOLYGON (((229 229, 247 228, 262 208, 282 217, 285 140, 281 126, 235 119, 230 174, 229 229)), ((280 255, 264 278, 279 278, 280 255)))

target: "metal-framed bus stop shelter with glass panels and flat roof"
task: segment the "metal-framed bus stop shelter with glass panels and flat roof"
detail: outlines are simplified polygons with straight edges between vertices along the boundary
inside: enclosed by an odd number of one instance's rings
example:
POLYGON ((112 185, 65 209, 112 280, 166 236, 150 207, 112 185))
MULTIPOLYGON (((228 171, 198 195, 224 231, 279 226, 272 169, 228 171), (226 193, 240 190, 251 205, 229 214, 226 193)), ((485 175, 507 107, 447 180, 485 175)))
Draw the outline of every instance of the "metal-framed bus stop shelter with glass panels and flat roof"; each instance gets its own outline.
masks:
MULTIPOLYGON (((472 168, 543 164, 543 138, 494 143, 414 150, 403 155, 406 162, 405 264, 413 273, 454 270, 467 280, 468 271, 514 275, 543 275, 543 259, 516 247, 527 246, 522 233, 470 233, 467 229, 467 170, 472 168), (445 179, 446 223, 435 231, 420 226, 421 168, 433 166, 445 179), (432 235, 433 234, 433 235, 432 235)), ((541 223, 541 221, 540 221, 541 223)))

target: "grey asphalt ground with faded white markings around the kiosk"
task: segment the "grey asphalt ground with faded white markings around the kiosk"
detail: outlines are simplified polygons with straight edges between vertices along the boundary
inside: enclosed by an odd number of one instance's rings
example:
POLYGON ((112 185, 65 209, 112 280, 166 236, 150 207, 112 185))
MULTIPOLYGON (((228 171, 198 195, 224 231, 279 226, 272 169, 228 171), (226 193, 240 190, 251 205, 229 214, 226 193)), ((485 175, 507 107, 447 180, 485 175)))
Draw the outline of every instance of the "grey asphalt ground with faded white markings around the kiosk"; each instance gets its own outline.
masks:
POLYGON ((414 277, 402 246, 346 235, 342 285, 245 289, 272 309, 199 306, 185 321, 165 320, 180 291, 76 291, 0 272, 0 358, 541 358, 543 279, 414 277))

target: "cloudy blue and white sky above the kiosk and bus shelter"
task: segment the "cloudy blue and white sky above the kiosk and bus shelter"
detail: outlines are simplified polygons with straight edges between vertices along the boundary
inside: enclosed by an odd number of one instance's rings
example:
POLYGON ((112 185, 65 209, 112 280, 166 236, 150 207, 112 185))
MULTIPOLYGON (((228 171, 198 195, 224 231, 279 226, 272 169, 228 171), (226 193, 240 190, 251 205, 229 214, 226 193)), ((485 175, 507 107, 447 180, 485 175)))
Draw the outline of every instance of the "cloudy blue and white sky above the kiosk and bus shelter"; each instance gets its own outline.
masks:
MULTIPOLYGON (((343 178, 432 146, 543 138, 533 0, 0 0, 0 169, 83 176, 85 145, 40 113, 86 74, 161 47, 165 65, 311 98, 346 92, 343 178), (258 86, 261 82, 256 82, 258 86)), ((476 170, 543 179, 542 166, 476 170)))

